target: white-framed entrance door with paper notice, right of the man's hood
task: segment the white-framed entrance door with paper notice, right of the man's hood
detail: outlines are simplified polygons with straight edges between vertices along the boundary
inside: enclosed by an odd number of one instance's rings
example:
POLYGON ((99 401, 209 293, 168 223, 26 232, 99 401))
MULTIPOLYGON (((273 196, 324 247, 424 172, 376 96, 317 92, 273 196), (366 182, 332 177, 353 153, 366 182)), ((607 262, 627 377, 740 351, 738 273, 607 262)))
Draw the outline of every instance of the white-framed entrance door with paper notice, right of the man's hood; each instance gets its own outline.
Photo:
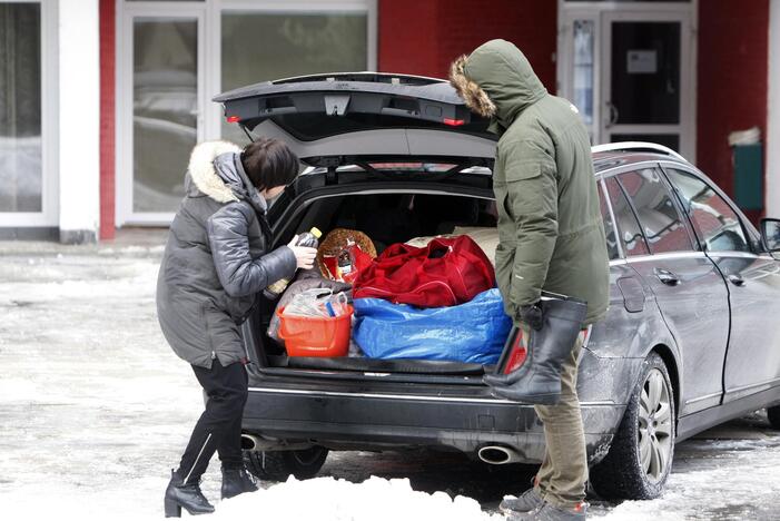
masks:
POLYGON ((563 3, 559 92, 577 107, 594 145, 652 141, 694 160, 693 11, 644 3, 563 3))

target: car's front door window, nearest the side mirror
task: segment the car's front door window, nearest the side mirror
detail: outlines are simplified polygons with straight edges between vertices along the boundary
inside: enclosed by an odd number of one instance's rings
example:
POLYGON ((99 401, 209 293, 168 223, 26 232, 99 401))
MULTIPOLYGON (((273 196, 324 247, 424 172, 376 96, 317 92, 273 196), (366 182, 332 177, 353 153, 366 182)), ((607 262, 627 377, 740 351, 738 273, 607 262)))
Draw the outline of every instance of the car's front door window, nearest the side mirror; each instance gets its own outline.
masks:
POLYGON ((682 170, 669 169, 667 175, 708 252, 750 252, 739 217, 710 185, 682 170))

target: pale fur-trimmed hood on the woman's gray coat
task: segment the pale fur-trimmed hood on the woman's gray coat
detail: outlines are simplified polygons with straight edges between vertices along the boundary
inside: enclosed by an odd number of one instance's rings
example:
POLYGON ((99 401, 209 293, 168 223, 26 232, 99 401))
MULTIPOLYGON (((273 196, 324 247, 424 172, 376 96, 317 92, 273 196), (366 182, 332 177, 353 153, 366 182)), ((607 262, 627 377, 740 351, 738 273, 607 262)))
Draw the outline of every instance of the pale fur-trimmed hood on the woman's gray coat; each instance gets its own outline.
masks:
POLYGON ((198 144, 189 156, 188 177, 194 188, 217 203, 244 199, 265 213, 267 204, 244 171, 240 154, 241 148, 228 141, 198 144))

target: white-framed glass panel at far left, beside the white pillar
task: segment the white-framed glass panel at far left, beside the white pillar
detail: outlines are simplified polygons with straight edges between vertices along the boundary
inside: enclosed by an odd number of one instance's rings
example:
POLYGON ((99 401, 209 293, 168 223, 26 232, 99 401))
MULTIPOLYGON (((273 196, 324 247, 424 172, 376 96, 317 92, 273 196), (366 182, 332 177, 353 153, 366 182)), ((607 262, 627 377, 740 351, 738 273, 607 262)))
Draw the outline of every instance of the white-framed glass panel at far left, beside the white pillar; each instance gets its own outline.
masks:
POLYGON ((0 227, 58 222, 56 29, 50 4, 0 1, 0 227))

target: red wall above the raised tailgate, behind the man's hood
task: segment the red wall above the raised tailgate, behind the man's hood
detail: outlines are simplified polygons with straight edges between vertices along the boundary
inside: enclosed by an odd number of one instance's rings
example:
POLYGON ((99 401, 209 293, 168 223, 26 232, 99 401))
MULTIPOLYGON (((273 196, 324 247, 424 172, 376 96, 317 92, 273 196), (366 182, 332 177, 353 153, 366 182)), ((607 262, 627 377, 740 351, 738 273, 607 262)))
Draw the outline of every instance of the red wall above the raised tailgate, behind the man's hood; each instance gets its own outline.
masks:
POLYGON ((554 0, 378 0, 378 69, 446 78, 450 62, 494 38, 515 43, 555 92, 554 0))

